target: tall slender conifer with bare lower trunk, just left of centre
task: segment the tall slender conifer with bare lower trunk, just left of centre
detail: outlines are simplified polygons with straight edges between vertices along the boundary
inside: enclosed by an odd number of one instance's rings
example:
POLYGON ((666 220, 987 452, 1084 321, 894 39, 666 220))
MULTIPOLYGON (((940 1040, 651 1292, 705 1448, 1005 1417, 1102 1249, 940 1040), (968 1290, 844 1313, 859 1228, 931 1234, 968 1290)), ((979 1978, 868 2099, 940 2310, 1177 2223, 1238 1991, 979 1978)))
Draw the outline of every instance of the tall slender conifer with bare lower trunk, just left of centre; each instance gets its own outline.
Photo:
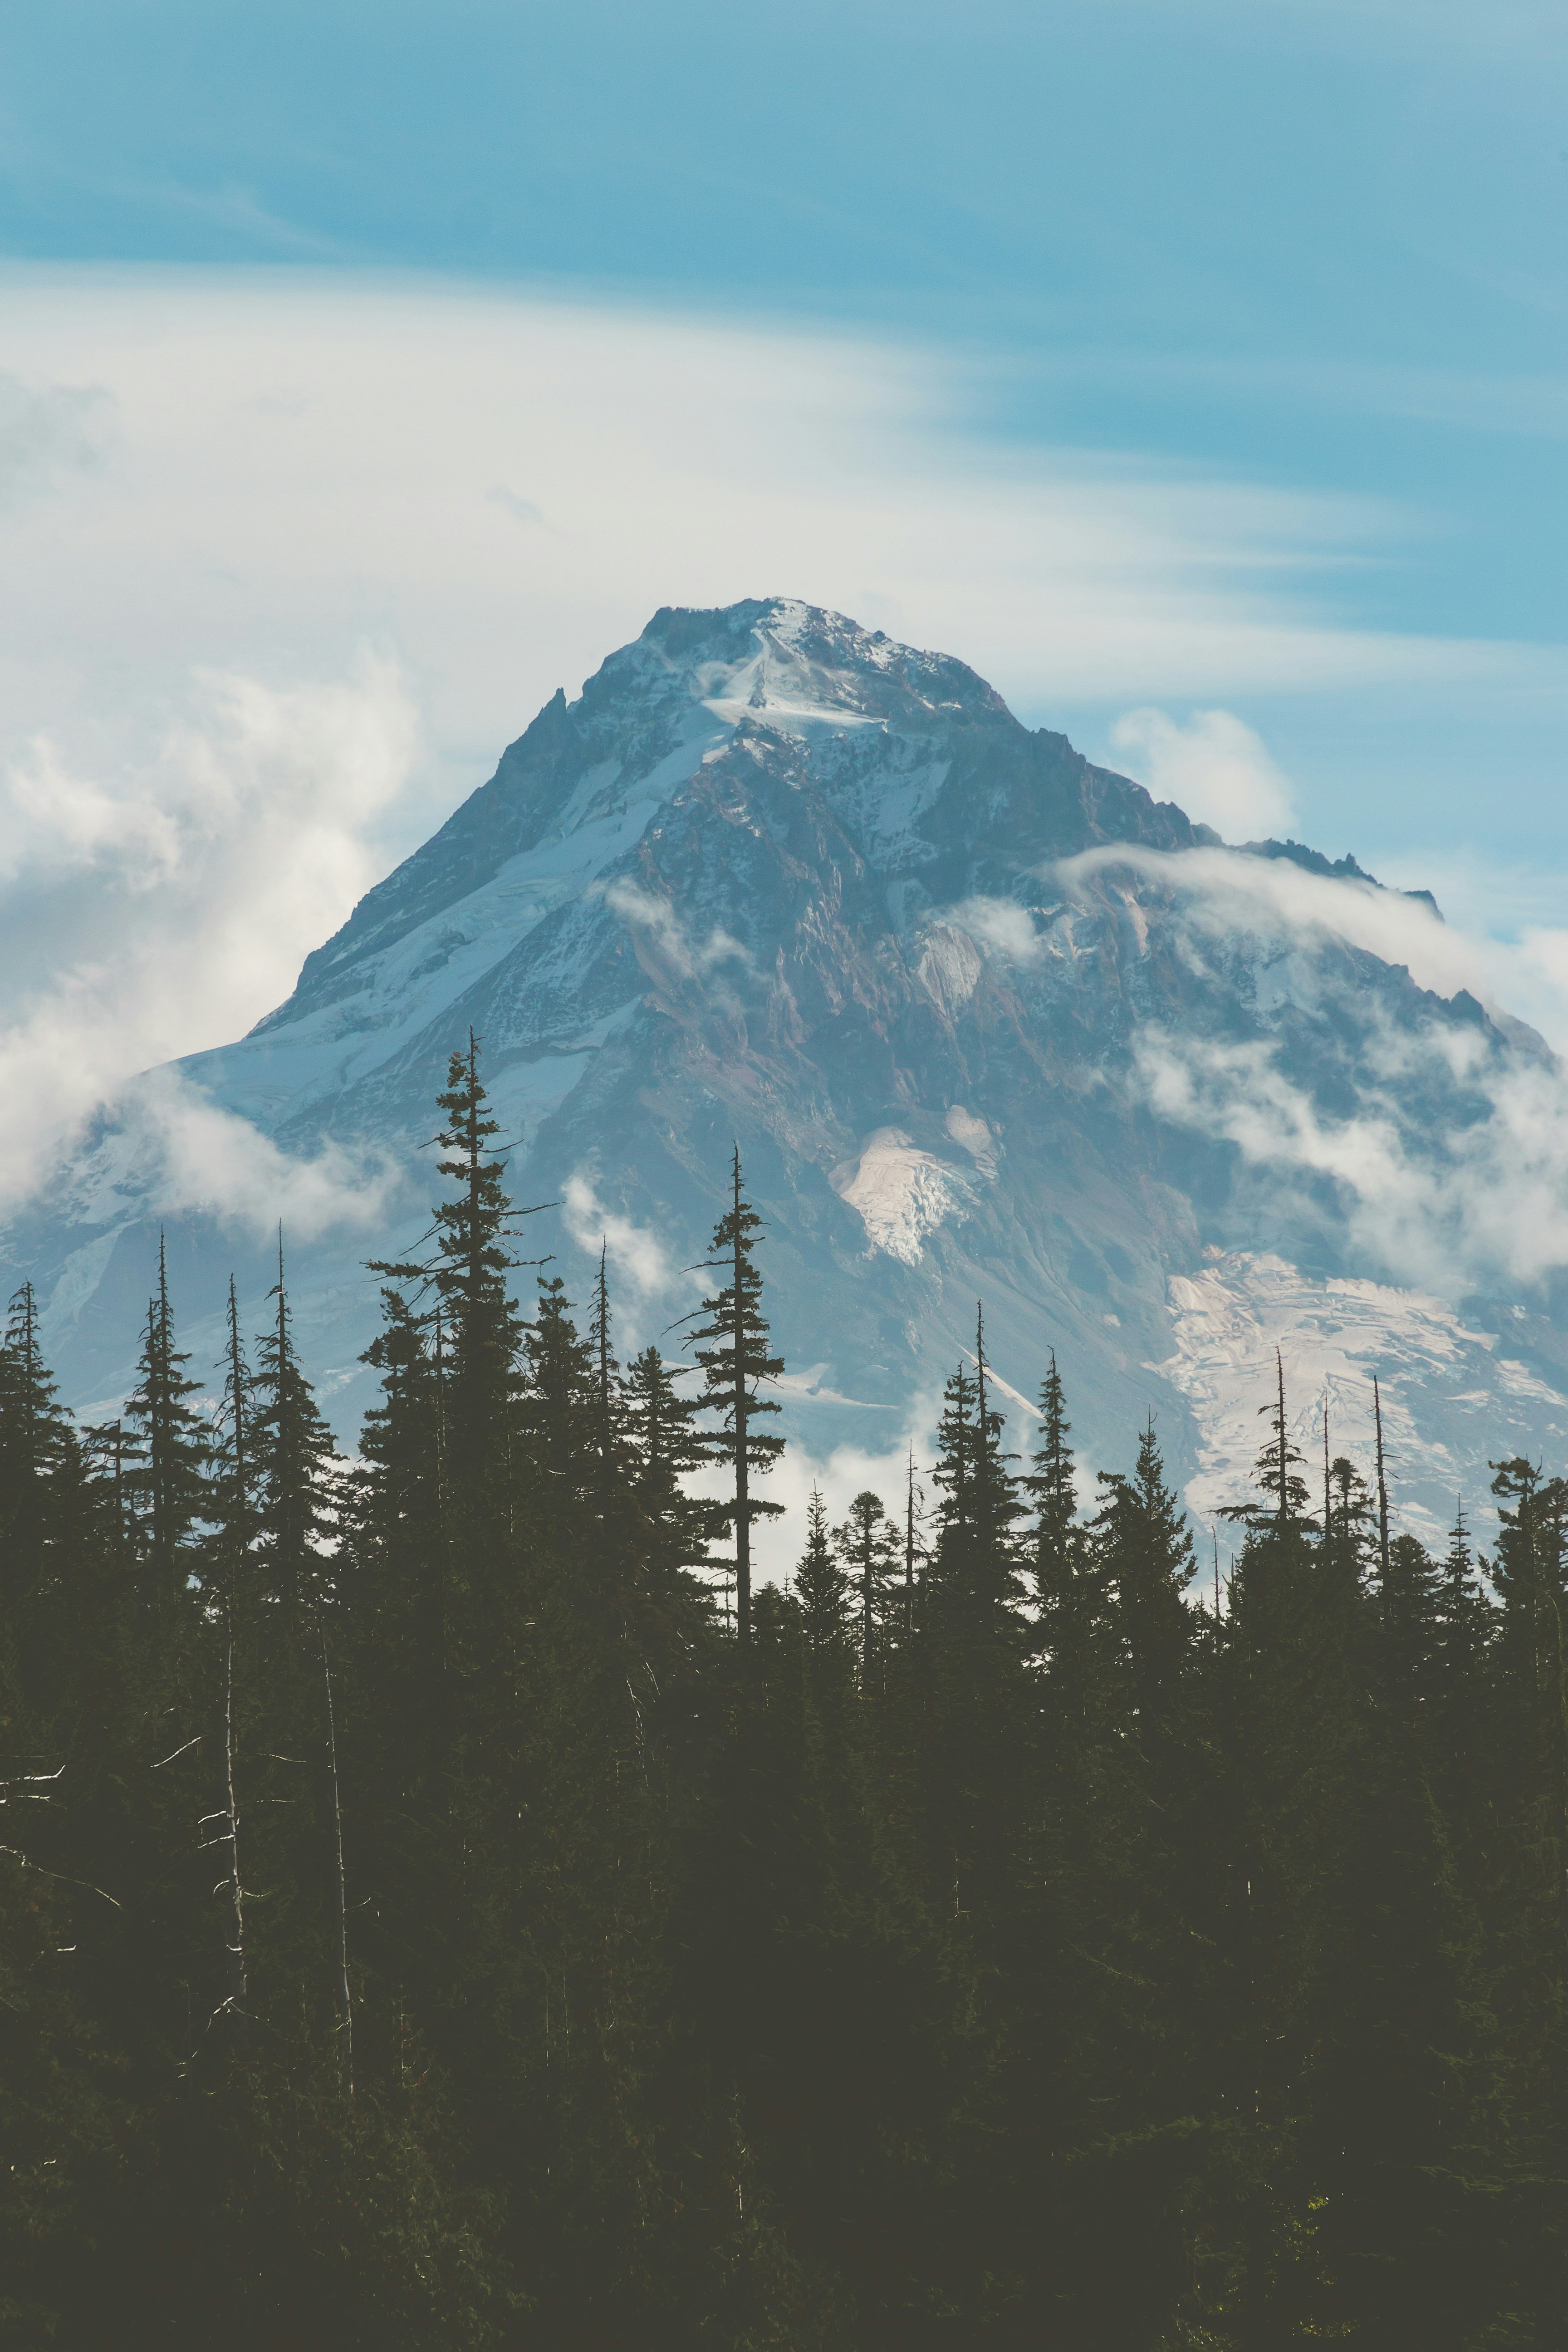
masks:
POLYGON ((741 1145, 736 1145, 731 1202, 712 1230, 715 1256, 705 1261, 708 1268, 726 1272, 729 1282, 712 1298, 703 1298, 698 1315, 705 1322, 691 1338, 705 1383, 703 1406, 719 1418, 710 1437, 712 1461, 724 1463, 733 1477, 733 1501, 724 1503, 722 1512, 736 1536, 741 1642, 750 1639, 752 1625, 752 1522, 783 1512, 783 1503, 764 1503, 752 1494, 752 1479, 766 1477, 783 1454, 783 1437, 755 1425, 762 1414, 780 1409, 776 1397, 762 1395, 762 1388, 783 1371, 783 1357, 769 1352, 769 1327, 762 1315, 762 1272, 755 1256, 759 1232, 762 1218, 741 1190, 741 1145))

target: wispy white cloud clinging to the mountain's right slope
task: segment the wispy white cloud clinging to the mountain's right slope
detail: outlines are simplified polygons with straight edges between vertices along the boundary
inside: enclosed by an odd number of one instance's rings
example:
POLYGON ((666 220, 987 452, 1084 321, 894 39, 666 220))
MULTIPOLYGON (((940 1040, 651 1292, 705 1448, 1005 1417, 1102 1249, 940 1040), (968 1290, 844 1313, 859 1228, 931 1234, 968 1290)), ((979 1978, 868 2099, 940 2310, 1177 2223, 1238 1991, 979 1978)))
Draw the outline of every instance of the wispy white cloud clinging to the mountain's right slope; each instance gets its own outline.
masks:
MULTIPOLYGON (((1356 1023, 1354 1110, 1326 1110, 1284 1068, 1281 1040, 1215 1040, 1150 1021, 1133 1084, 1178 1127, 1232 1143, 1272 1185, 1276 1218, 1312 1216, 1333 1188, 1352 1247, 1399 1282, 1453 1296, 1474 1284, 1537 1284, 1568 1265, 1568 1073, 1519 1040, 1500 1051, 1453 1018, 1394 1023, 1354 974, 1324 955, 1345 943, 1403 964, 1436 997, 1460 990, 1500 1009, 1521 950, 1443 924, 1420 898, 1305 873, 1286 858, 1222 849, 1095 849, 1056 868, 1081 891, 1133 870, 1145 908, 1168 894, 1173 941, 1199 976, 1248 955, 1265 1021, 1286 1004, 1356 1023), (1446 1103, 1446 1124, 1434 1124, 1446 1103)), ((1152 922, 1157 917, 1152 915, 1152 922)))

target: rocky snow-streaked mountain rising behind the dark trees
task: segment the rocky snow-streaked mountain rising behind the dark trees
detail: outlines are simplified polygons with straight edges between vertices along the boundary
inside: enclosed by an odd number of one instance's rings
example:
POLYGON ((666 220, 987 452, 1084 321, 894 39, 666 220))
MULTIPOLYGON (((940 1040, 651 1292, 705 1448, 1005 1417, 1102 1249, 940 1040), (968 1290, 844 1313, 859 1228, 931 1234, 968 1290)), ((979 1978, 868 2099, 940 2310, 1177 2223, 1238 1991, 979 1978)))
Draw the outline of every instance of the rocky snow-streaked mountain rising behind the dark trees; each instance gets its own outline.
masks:
POLYGON ((1441 1214, 1443 1169, 1474 1192, 1505 1148, 1500 1089, 1556 1065, 1356 946, 1380 908, 1436 929, 1354 866, 1220 849, 957 661, 783 600, 665 609, 284 1007, 129 1089, 7 1254, 68 1397, 101 1406, 160 1218, 202 1369, 228 1268, 252 1298, 268 1279, 275 1200, 353 1435, 360 1261, 423 1228, 421 1145, 473 1028, 515 1190, 559 1204, 529 1242, 581 1296, 607 1235, 628 1338, 689 1308, 738 1141, 816 1456, 891 1454, 985 1298, 1018 1404, 1056 1348, 1088 1458, 1126 1461, 1154 1409, 1201 1510, 1255 1454, 1274 1345, 1309 1454, 1324 1392, 1335 1451, 1363 1449, 1380 1371, 1396 1484, 1436 1524, 1455 1484, 1481 1501, 1488 1451, 1568 1430, 1540 1291, 1441 1214), (1403 1223, 1368 1138, 1413 1188, 1403 1223))

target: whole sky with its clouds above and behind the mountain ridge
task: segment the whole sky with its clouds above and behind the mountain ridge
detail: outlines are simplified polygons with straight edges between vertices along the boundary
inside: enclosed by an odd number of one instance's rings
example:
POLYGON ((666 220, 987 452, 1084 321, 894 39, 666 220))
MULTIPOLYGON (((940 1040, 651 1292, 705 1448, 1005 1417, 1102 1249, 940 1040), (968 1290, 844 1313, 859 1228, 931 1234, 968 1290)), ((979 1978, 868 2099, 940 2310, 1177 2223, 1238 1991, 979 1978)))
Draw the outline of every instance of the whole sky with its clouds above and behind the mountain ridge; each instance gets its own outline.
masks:
MULTIPOLYGON (((1556 938, 1561 5, 54 0, 0 59, 28 953, 78 884, 101 934, 87 863, 129 938, 148 844, 216 840, 197 769, 244 802, 301 713, 381 746, 327 795, 362 887, 654 602, 729 593, 945 642, 1157 788, 1253 746, 1302 837, 1556 938)), ((273 931, 209 1025, 313 943, 273 931)))

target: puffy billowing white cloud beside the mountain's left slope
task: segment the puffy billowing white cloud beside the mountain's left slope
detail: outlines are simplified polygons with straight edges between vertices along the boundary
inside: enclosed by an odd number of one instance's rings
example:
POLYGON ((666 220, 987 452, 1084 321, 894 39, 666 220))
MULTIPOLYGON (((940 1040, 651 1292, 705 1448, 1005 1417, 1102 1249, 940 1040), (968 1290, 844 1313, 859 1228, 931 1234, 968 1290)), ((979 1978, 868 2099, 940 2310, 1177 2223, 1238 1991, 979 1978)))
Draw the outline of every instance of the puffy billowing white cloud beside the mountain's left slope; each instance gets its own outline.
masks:
MULTIPOLYGON (((197 680, 106 779, 28 746, 0 779, 0 1202, 132 1070, 223 1044, 289 993, 376 877, 364 830, 414 750, 397 673, 371 659, 287 691, 197 680)), ((233 1192, 235 1138, 216 1160, 216 1129, 200 1141, 233 1192)), ((322 1216, 310 1185, 299 1202, 322 1216)))

